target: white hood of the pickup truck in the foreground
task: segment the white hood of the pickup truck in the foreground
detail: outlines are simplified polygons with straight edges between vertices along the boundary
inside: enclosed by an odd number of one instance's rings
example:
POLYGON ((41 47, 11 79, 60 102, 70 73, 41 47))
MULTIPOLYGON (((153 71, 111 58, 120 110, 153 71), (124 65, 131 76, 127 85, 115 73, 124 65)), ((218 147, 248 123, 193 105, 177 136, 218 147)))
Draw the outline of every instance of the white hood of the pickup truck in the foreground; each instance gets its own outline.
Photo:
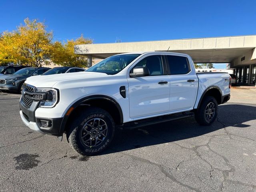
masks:
POLYGON ((100 76, 108 76, 106 73, 98 72, 76 72, 76 73, 63 73, 54 75, 38 75, 31 76, 25 81, 26 84, 30 84, 39 88, 51 88, 54 84, 60 81, 68 81, 74 79, 95 78, 100 76))

